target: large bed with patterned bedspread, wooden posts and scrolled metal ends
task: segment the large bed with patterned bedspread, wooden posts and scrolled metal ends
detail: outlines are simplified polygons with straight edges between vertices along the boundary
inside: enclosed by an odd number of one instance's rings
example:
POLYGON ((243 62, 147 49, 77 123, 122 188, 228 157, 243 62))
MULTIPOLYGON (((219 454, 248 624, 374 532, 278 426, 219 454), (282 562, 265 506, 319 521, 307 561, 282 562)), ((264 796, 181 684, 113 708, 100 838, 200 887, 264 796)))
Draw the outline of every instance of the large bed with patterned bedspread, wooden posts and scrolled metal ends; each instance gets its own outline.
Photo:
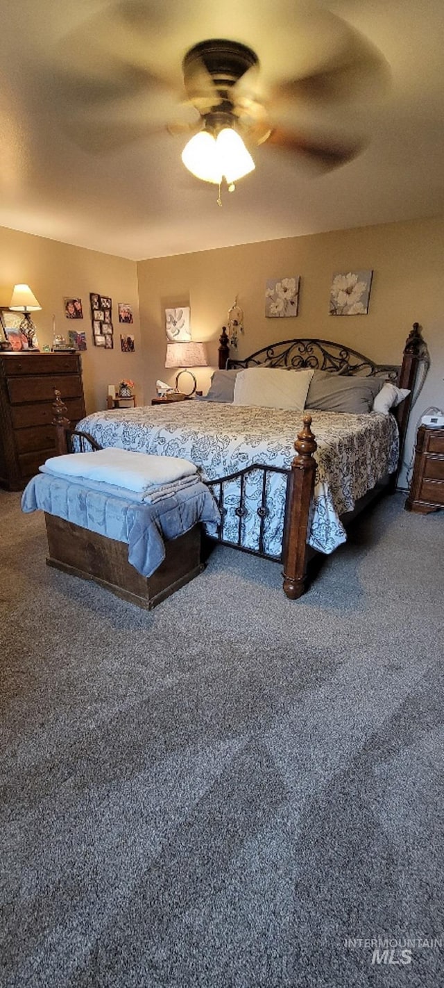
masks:
POLYGON ((57 449, 64 453, 88 443, 93 449, 186 456, 219 506, 221 523, 207 526, 209 537, 281 562, 283 590, 296 599, 305 590, 310 558, 332 552, 345 541, 349 520, 382 490, 394 489, 423 351, 414 323, 401 366, 378 365, 357 351, 315 339, 272 344, 237 361, 230 359, 223 332, 219 368, 224 371, 327 371, 327 376, 392 381, 408 395, 388 415, 313 408, 301 416, 222 401, 172 402, 97 412, 72 435, 58 396, 57 449))

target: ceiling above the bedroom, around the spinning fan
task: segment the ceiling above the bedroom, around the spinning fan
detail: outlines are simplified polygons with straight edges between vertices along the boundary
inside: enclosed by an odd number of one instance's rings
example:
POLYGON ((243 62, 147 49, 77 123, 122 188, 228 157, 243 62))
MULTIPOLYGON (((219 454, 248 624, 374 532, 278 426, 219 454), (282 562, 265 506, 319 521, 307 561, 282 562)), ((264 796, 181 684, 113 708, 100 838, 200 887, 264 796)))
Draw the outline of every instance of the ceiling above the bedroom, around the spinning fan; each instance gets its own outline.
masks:
POLYGON ((0 0, 0 10, 0 225, 141 259, 444 211, 443 0, 0 0), (220 208, 216 187, 185 171, 186 137, 164 129, 194 118, 181 107, 185 51, 243 41, 266 83, 295 77, 329 42, 306 28, 319 7, 377 45, 391 84, 318 116, 302 105, 290 122, 363 127, 370 144, 316 178, 263 145, 220 208), (96 106, 74 86, 86 75, 113 85, 128 63, 169 85, 145 81, 136 96, 96 106), (111 144, 97 151, 104 127, 111 144))

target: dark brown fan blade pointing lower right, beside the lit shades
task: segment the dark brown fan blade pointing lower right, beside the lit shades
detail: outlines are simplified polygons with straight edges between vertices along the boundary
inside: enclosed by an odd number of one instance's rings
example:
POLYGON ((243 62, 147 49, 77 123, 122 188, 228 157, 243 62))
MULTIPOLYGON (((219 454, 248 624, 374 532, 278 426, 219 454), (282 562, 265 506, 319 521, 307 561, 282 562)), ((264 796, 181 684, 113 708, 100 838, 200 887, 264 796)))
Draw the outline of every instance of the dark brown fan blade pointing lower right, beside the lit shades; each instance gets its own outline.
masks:
POLYGON ((347 140, 345 137, 316 136, 297 130, 286 130, 274 127, 266 140, 266 146, 279 147, 301 157, 305 157, 311 165, 320 171, 332 171, 340 165, 352 161, 364 150, 364 138, 355 137, 347 140))

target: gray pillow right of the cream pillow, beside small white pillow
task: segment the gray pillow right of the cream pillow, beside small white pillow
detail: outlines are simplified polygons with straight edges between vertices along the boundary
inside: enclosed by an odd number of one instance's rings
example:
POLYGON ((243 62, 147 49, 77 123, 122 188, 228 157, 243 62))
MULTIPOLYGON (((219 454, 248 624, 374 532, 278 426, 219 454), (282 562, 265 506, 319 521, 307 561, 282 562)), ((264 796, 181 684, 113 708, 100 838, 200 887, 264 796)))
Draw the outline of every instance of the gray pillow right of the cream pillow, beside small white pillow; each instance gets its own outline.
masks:
POLYGON ((334 371, 315 371, 305 407, 365 415, 371 412, 383 384, 384 377, 344 377, 334 371))

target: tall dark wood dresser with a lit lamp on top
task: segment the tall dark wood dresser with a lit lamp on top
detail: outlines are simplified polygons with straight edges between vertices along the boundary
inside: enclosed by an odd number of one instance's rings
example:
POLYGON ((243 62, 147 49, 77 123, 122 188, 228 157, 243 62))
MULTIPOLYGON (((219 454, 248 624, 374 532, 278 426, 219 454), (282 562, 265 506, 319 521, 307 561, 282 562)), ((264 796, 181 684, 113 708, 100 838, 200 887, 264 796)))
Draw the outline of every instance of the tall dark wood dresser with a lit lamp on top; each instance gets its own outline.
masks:
POLYGON ((9 490, 23 490, 55 452, 54 388, 76 425, 85 415, 79 354, 0 354, 0 484, 9 490))

